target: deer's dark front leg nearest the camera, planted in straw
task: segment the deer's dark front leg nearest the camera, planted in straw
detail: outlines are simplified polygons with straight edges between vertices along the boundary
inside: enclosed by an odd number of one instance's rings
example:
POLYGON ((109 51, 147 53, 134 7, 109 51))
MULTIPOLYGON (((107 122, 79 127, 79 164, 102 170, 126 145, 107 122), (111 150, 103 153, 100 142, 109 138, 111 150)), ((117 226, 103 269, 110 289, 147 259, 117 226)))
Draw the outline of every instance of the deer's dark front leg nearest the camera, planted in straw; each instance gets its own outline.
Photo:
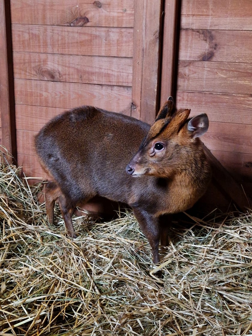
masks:
POLYGON ((153 262, 157 264, 159 263, 158 246, 160 240, 159 218, 139 208, 133 208, 133 212, 143 234, 151 245, 153 262))

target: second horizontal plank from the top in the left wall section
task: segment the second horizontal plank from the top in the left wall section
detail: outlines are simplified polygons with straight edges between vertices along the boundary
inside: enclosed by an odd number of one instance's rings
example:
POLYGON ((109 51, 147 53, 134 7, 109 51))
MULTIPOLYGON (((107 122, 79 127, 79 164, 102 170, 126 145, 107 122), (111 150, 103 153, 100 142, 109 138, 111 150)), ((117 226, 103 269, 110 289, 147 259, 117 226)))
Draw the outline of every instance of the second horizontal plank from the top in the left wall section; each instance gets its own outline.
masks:
POLYGON ((132 57, 133 28, 12 25, 13 51, 132 57))

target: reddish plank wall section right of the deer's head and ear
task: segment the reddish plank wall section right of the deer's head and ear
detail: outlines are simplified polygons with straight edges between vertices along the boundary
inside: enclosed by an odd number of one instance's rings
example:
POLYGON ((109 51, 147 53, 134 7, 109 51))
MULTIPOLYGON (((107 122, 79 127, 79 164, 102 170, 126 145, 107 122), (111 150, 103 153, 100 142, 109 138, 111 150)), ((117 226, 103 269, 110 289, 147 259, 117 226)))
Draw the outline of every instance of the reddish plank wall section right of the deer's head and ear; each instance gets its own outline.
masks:
POLYGON ((208 114, 204 143, 251 193, 252 2, 181 4, 177 106, 208 114))

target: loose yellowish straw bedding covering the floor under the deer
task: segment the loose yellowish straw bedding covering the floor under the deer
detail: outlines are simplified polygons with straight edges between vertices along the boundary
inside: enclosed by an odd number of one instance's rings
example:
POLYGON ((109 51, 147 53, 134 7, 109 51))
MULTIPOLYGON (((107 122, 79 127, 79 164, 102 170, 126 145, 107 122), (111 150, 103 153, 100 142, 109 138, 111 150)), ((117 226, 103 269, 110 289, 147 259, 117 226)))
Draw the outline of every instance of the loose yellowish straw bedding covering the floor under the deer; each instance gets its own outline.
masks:
MULTIPOLYGON (((40 185, 0 170, 0 335, 252 335, 250 214, 171 224, 152 264, 131 211, 49 225, 40 185)), ((185 221, 185 218, 188 220, 185 221)))

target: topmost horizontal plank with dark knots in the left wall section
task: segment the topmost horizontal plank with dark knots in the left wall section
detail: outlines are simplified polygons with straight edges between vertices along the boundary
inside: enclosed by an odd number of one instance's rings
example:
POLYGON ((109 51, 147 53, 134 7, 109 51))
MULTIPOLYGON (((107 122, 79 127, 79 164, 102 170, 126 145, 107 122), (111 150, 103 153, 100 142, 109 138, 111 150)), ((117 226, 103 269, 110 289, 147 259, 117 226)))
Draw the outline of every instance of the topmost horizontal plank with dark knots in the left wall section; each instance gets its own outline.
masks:
POLYGON ((133 27, 134 22, 134 0, 11 0, 10 3, 13 24, 133 27))

